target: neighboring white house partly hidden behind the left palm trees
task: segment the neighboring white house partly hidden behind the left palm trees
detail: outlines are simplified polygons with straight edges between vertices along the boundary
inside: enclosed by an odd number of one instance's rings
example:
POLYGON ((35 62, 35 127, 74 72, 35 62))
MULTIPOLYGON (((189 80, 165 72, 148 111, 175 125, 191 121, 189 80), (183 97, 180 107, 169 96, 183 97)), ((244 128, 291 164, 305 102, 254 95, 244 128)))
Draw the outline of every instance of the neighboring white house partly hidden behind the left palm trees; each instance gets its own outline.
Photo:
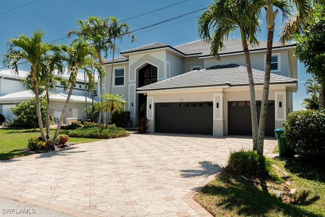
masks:
MULTIPOLYGON (((10 108, 14 107, 16 103, 26 102, 32 97, 35 97, 34 92, 26 90, 18 78, 24 78, 29 72, 18 72, 19 77, 14 75, 10 70, 0 71, 0 114, 5 115, 6 119, 15 117, 10 108)), ((65 74, 63 78, 68 76, 65 74)), ((87 105, 91 105, 92 95, 88 90, 88 80, 86 86, 84 83, 84 74, 79 72, 77 75, 77 82, 70 98, 68 110, 64 116, 63 123, 71 120, 85 120, 86 114, 84 109, 85 104, 85 88, 87 90, 87 105), (68 119, 67 119, 68 118, 68 119), (73 119, 71 119, 73 118, 73 119)), ((50 94, 50 112, 54 119, 59 119, 62 113, 62 108, 68 96, 68 90, 64 91, 63 86, 58 82, 56 84, 55 92, 52 90, 50 94)), ((94 102, 99 102, 99 93, 97 84, 94 86, 94 102)))

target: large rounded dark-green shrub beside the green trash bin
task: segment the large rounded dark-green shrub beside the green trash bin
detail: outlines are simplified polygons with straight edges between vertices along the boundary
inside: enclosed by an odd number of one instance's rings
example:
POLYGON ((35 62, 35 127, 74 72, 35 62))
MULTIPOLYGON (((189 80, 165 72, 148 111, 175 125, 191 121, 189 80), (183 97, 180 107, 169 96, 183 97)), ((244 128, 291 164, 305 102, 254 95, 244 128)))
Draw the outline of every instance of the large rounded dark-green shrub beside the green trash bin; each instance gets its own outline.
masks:
POLYGON ((291 112, 285 121, 283 135, 288 146, 300 157, 325 157, 325 110, 291 112))

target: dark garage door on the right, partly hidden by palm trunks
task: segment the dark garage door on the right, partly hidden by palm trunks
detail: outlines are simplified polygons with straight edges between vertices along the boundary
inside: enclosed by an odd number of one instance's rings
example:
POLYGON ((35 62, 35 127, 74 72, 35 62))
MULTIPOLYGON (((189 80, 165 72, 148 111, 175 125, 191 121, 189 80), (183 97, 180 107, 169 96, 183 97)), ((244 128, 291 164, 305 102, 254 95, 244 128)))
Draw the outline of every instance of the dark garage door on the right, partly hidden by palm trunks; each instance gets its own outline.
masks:
MULTIPOLYGON (((250 102, 236 101, 228 102, 228 134, 229 135, 252 135, 252 124, 250 116, 250 102)), ((261 111, 261 101, 256 101, 257 119, 259 119, 259 111, 261 111)), ((268 111, 265 125, 265 136, 274 137, 274 101, 269 101, 268 111)))

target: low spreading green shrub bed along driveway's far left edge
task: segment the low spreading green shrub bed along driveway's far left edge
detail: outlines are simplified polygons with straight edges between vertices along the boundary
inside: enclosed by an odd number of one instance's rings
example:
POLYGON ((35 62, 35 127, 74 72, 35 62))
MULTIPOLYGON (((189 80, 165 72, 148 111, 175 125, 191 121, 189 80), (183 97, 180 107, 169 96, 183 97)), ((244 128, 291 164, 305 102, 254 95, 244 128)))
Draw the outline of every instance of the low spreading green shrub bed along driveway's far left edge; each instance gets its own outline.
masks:
POLYGON ((82 128, 69 131, 70 137, 93 138, 93 139, 111 139, 117 137, 129 136, 129 132, 122 128, 110 126, 108 129, 97 126, 92 128, 82 128))

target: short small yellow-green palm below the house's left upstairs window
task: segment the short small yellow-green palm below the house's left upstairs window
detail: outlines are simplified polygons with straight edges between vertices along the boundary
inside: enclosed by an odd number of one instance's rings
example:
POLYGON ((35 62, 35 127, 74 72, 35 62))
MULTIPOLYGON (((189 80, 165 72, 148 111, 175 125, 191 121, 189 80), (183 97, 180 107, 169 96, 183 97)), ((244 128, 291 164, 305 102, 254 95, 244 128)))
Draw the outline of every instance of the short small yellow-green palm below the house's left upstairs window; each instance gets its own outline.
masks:
POLYGON ((109 111, 110 116, 108 118, 108 122, 106 125, 106 128, 109 125, 109 122, 112 118, 114 111, 124 111, 126 108, 125 105, 127 102, 124 100, 123 95, 119 94, 109 94, 108 92, 101 96, 101 98, 104 98, 105 101, 101 103, 101 111, 109 111))

